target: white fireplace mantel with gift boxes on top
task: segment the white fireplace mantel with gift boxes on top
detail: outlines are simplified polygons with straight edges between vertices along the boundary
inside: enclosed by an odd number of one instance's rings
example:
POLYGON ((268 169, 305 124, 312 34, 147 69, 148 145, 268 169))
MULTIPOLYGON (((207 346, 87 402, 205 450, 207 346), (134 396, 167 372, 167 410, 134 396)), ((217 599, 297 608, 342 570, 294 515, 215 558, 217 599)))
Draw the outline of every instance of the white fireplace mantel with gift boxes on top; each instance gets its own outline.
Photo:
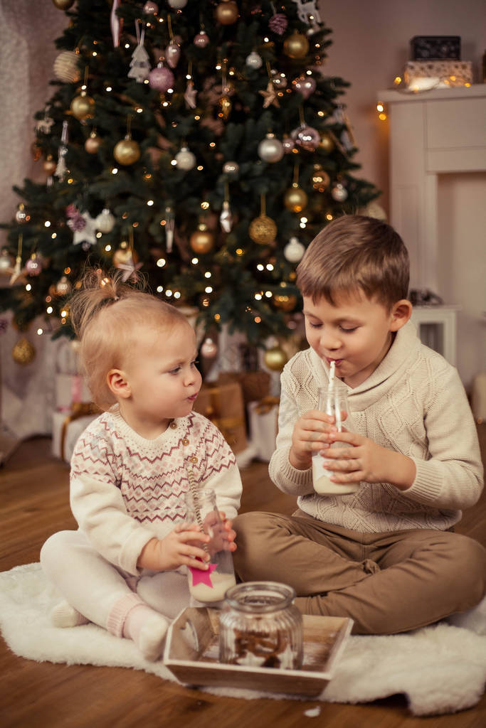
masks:
POLYGON ((390 222, 409 250, 410 286, 440 295, 438 175, 486 170, 486 84, 377 100, 390 119, 390 222))

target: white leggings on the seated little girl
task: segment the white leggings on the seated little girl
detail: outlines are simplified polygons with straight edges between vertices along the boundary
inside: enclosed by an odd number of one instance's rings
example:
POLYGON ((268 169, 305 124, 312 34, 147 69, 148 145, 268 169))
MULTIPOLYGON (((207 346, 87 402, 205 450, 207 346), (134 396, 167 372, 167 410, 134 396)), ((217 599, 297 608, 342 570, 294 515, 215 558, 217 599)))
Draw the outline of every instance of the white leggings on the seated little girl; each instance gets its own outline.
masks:
POLYGON ((82 531, 59 531, 41 550, 44 573, 80 614, 108 628, 115 604, 136 593, 145 604, 173 619, 189 606, 187 576, 177 571, 133 577, 106 561, 82 531))

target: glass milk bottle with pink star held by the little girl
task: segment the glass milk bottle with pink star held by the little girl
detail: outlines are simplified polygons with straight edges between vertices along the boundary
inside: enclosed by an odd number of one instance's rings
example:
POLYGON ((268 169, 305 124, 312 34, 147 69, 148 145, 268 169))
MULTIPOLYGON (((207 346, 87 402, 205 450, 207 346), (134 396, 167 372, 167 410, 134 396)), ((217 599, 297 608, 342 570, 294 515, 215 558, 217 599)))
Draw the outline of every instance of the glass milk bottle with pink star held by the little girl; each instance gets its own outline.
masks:
MULTIPOLYGON (((212 488, 197 489, 194 486, 186 496, 187 521, 197 523, 211 541, 203 544, 210 555, 208 569, 188 568, 189 592, 197 601, 205 604, 222 601, 227 589, 236 583, 233 558, 227 531, 216 506, 216 494, 212 488)), ((195 542, 196 543, 196 542, 195 542)))

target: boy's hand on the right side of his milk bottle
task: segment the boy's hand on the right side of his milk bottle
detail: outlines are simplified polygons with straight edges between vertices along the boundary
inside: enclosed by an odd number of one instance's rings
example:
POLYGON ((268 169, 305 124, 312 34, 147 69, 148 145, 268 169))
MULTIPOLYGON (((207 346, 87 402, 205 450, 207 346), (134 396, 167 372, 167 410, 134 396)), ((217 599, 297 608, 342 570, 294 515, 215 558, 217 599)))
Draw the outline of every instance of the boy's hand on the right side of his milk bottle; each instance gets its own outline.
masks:
POLYGON ((350 447, 326 448, 323 467, 333 470, 333 483, 392 483, 404 491, 415 480, 415 463, 412 459, 356 432, 329 432, 324 437, 328 446, 333 442, 346 443, 350 447))

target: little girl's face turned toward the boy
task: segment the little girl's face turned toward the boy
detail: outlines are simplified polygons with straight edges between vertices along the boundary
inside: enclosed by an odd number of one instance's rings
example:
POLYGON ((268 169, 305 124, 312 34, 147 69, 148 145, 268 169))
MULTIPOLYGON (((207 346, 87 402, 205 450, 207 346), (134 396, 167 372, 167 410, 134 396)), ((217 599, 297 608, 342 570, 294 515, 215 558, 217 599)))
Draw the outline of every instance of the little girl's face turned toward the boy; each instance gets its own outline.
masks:
POLYGON ((139 435, 154 439, 171 419, 192 411, 202 381, 196 356, 195 332, 189 324, 176 323, 169 331, 138 331, 136 352, 124 367, 128 396, 118 400, 122 416, 139 435))

